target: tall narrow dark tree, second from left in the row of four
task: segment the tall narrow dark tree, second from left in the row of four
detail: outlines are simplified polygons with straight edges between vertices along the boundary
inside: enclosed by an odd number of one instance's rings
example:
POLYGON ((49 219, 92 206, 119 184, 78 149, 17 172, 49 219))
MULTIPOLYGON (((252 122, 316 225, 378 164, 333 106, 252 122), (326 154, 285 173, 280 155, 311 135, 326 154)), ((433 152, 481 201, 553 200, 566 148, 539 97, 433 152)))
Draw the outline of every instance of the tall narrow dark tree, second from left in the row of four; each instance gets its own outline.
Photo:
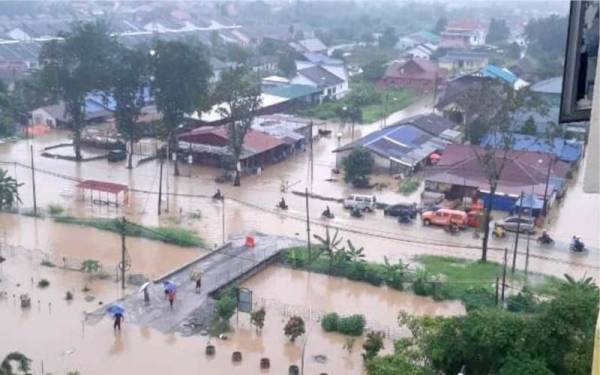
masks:
POLYGON ((141 136, 137 119, 145 105, 144 89, 148 81, 145 54, 123 46, 115 48, 112 66, 112 96, 115 100, 115 120, 119 132, 129 142, 127 168, 132 168, 133 146, 141 136))

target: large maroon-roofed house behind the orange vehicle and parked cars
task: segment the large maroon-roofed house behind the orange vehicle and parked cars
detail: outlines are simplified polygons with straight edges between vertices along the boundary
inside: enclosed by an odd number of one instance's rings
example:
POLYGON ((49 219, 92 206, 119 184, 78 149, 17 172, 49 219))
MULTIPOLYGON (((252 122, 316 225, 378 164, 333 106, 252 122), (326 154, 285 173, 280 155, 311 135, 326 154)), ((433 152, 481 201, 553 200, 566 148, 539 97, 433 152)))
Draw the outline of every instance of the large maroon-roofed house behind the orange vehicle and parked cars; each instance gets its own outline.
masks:
MULTIPOLYGON (((444 193, 448 199, 477 194, 487 205, 489 183, 477 157, 482 153, 483 149, 474 146, 449 144, 438 163, 426 171, 425 189, 444 193)), ((498 164, 503 155, 503 150, 495 153, 498 164)), ((521 193, 546 197, 552 202, 564 189, 568 170, 567 163, 556 161, 548 153, 509 151, 494 194, 493 209, 513 211, 521 193)))

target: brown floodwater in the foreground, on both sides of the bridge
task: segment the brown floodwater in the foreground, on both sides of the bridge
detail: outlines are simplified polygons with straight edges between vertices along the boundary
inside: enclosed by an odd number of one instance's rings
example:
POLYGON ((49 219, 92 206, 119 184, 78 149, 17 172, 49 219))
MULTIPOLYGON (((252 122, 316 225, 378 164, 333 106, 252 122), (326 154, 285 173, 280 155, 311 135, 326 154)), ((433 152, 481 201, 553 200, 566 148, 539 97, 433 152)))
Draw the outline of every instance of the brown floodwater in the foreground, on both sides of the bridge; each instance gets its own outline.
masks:
MULTIPOLYGON (((58 374, 75 369, 86 375, 254 374, 260 373, 262 357, 271 361, 268 373, 282 374, 290 364, 300 363, 304 345, 307 374, 364 374, 360 339, 354 343, 352 352, 348 352, 343 347, 346 338, 323 332, 313 314, 312 320, 307 319, 307 334, 290 343, 283 335, 286 315, 302 314, 294 310, 299 305, 309 306, 313 312, 363 313, 373 328, 384 329, 389 324, 394 333, 400 310, 433 315, 464 311, 456 302, 434 302, 386 288, 271 267, 245 283, 253 290, 255 303, 266 305, 263 332, 257 334, 248 315, 240 313, 232 318, 235 330, 228 334, 227 340, 211 339, 216 345, 216 355, 207 358, 204 354, 207 337, 163 335, 128 324, 127 314, 121 333, 113 332, 107 318, 97 324, 83 324, 84 311, 94 311, 99 301, 106 303, 122 295, 114 282, 90 281, 80 272, 43 267, 19 254, 8 256, 0 277, 0 290, 8 293, 7 298, 0 299, 0 354, 13 350, 27 354, 33 359, 34 374, 41 373, 42 366, 45 372, 58 374), (41 278, 50 281, 47 289, 34 286, 41 278), (89 293, 81 291, 84 285, 90 288, 89 293), (64 299, 67 290, 75 295, 71 302, 64 299), (21 293, 32 297, 29 310, 18 306, 21 293), (86 294, 95 296, 95 300, 86 302, 83 298, 86 294), (242 352, 241 364, 232 364, 233 351, 242 352), (317 362, 316 355, 326 356, 325 363, 317 362)), ((393 349, 389 339, 385 345, 384 352, 393 349)))

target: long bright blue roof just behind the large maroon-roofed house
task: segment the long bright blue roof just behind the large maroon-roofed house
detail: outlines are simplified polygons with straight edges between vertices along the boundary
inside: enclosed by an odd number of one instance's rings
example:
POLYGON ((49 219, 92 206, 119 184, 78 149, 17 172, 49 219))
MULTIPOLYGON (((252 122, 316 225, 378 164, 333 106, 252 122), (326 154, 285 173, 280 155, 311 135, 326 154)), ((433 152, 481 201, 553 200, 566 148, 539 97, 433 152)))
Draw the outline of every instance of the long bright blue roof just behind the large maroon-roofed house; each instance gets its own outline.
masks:
MULTIPOLYGON (((487 135, 481 140, 482 145, 495 146, 492 135, 487 135)), ((554 154, 559 160, 573 163, 581 158, 582 147, 579 143, 567 142, 564 138, 554 138, 552 142, 545 141, 539 137, 525 134, 514 134, 513 150, 545 152, 554 154)))

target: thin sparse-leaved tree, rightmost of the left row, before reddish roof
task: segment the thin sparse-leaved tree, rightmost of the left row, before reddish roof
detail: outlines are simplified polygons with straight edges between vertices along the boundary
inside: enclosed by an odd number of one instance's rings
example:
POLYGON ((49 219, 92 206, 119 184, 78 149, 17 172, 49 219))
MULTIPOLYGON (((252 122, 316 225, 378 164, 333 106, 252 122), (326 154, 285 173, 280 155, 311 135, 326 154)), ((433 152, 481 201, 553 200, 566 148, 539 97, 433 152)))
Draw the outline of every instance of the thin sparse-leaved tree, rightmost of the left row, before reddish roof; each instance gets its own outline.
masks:
POLYGON ((262 103, 260 81, 246 66, 225 69, 215 87, 215 98, 223 103, 217 111, 227 119, 229 150, 235 168, 233 186, 240 186, 239 162, 244 138, 262 103))

